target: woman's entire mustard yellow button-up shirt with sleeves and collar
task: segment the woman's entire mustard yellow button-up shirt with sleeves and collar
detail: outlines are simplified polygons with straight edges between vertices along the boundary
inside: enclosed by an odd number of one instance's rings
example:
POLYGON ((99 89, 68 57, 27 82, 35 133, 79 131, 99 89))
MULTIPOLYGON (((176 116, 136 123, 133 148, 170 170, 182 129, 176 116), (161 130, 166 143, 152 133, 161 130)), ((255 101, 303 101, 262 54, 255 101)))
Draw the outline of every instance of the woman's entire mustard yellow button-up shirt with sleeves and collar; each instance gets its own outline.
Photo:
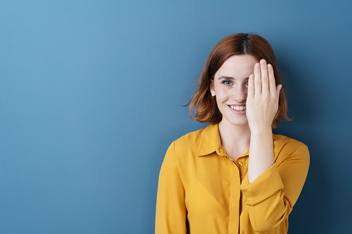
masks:
POLYGON ((306 145, 272 135, 275 164, 248 182, 248 155, 234 162, 221 146, 217 124, 169 146, 160 169, 157 234, 287 233, 306 180, 306 145))

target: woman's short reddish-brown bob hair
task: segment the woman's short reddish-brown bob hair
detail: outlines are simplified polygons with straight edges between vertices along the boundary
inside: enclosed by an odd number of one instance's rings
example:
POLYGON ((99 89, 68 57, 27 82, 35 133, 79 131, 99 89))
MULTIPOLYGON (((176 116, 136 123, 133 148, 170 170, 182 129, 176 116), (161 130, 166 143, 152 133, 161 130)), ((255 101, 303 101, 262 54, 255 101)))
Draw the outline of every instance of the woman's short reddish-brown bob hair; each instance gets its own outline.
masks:
MULTIPOLYGON (((252 55, 258 61, 265 59, 268 64, 272 65, 276 85, 282 84, 274 51, 266 39, 254 34, 238 33, 230 35, 216 44, 205 62, 201 77, 199 77, 198 88, 191 101, 189 101, 189 114, 193 119, 203 123, 217 124, 223 118, 216 104, 216 99, 210 93, 210 84, 214 80, 216 71, 232 55, 252 55)), ((279 108, 272 121, 272 129, 276 128, 277 124, 283 120, 290 120, 290 118, 287 115, 284 88, 281 88, 279 108)))

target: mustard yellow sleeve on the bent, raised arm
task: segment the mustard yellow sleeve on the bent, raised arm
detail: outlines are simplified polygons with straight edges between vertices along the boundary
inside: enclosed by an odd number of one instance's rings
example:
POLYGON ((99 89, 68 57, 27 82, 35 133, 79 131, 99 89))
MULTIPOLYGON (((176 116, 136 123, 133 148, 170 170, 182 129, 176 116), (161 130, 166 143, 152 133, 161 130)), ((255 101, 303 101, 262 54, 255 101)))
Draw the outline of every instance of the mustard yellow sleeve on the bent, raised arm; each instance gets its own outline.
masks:
POLYGON ((283 147, 278 154, 288 156, 281 161, 276 160, 252 183, 248 182, 247 176, 240 188, 252 228, 259 233, 270 231, 287 219, 308 173, 309 152, 306 145, 301 143, 290 152, 283 147))

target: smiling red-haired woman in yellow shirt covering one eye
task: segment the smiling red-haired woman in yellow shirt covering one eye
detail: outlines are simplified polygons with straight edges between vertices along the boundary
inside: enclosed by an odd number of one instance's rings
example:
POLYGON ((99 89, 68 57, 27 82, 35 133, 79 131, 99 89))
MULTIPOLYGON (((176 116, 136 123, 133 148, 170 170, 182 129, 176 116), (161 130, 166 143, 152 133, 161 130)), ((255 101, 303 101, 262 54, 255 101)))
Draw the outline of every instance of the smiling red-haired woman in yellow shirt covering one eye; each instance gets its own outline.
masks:
POLYGON ((268 41, 248 34, 221 40, 189 107, 210 125, 169 146, 156 233, 287 233, 309 153, 303 143, 272 134, 288 117, 268 41))

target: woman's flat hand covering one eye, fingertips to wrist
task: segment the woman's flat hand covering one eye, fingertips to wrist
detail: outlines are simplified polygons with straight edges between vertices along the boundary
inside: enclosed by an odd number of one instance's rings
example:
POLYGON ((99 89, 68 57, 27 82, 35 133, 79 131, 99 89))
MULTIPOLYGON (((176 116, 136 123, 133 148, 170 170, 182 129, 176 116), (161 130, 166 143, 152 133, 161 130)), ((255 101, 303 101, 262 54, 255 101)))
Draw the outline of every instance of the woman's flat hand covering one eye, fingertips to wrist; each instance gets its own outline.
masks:
POLYGON ((282 85, 276 86, 274 70, 271 64, 261 59, 255 64, 254 75, 248 80, 248 97, 246 115, 251 133, 261 130, 271 130, 272 120, 279 108, 279 92, 282 85))

